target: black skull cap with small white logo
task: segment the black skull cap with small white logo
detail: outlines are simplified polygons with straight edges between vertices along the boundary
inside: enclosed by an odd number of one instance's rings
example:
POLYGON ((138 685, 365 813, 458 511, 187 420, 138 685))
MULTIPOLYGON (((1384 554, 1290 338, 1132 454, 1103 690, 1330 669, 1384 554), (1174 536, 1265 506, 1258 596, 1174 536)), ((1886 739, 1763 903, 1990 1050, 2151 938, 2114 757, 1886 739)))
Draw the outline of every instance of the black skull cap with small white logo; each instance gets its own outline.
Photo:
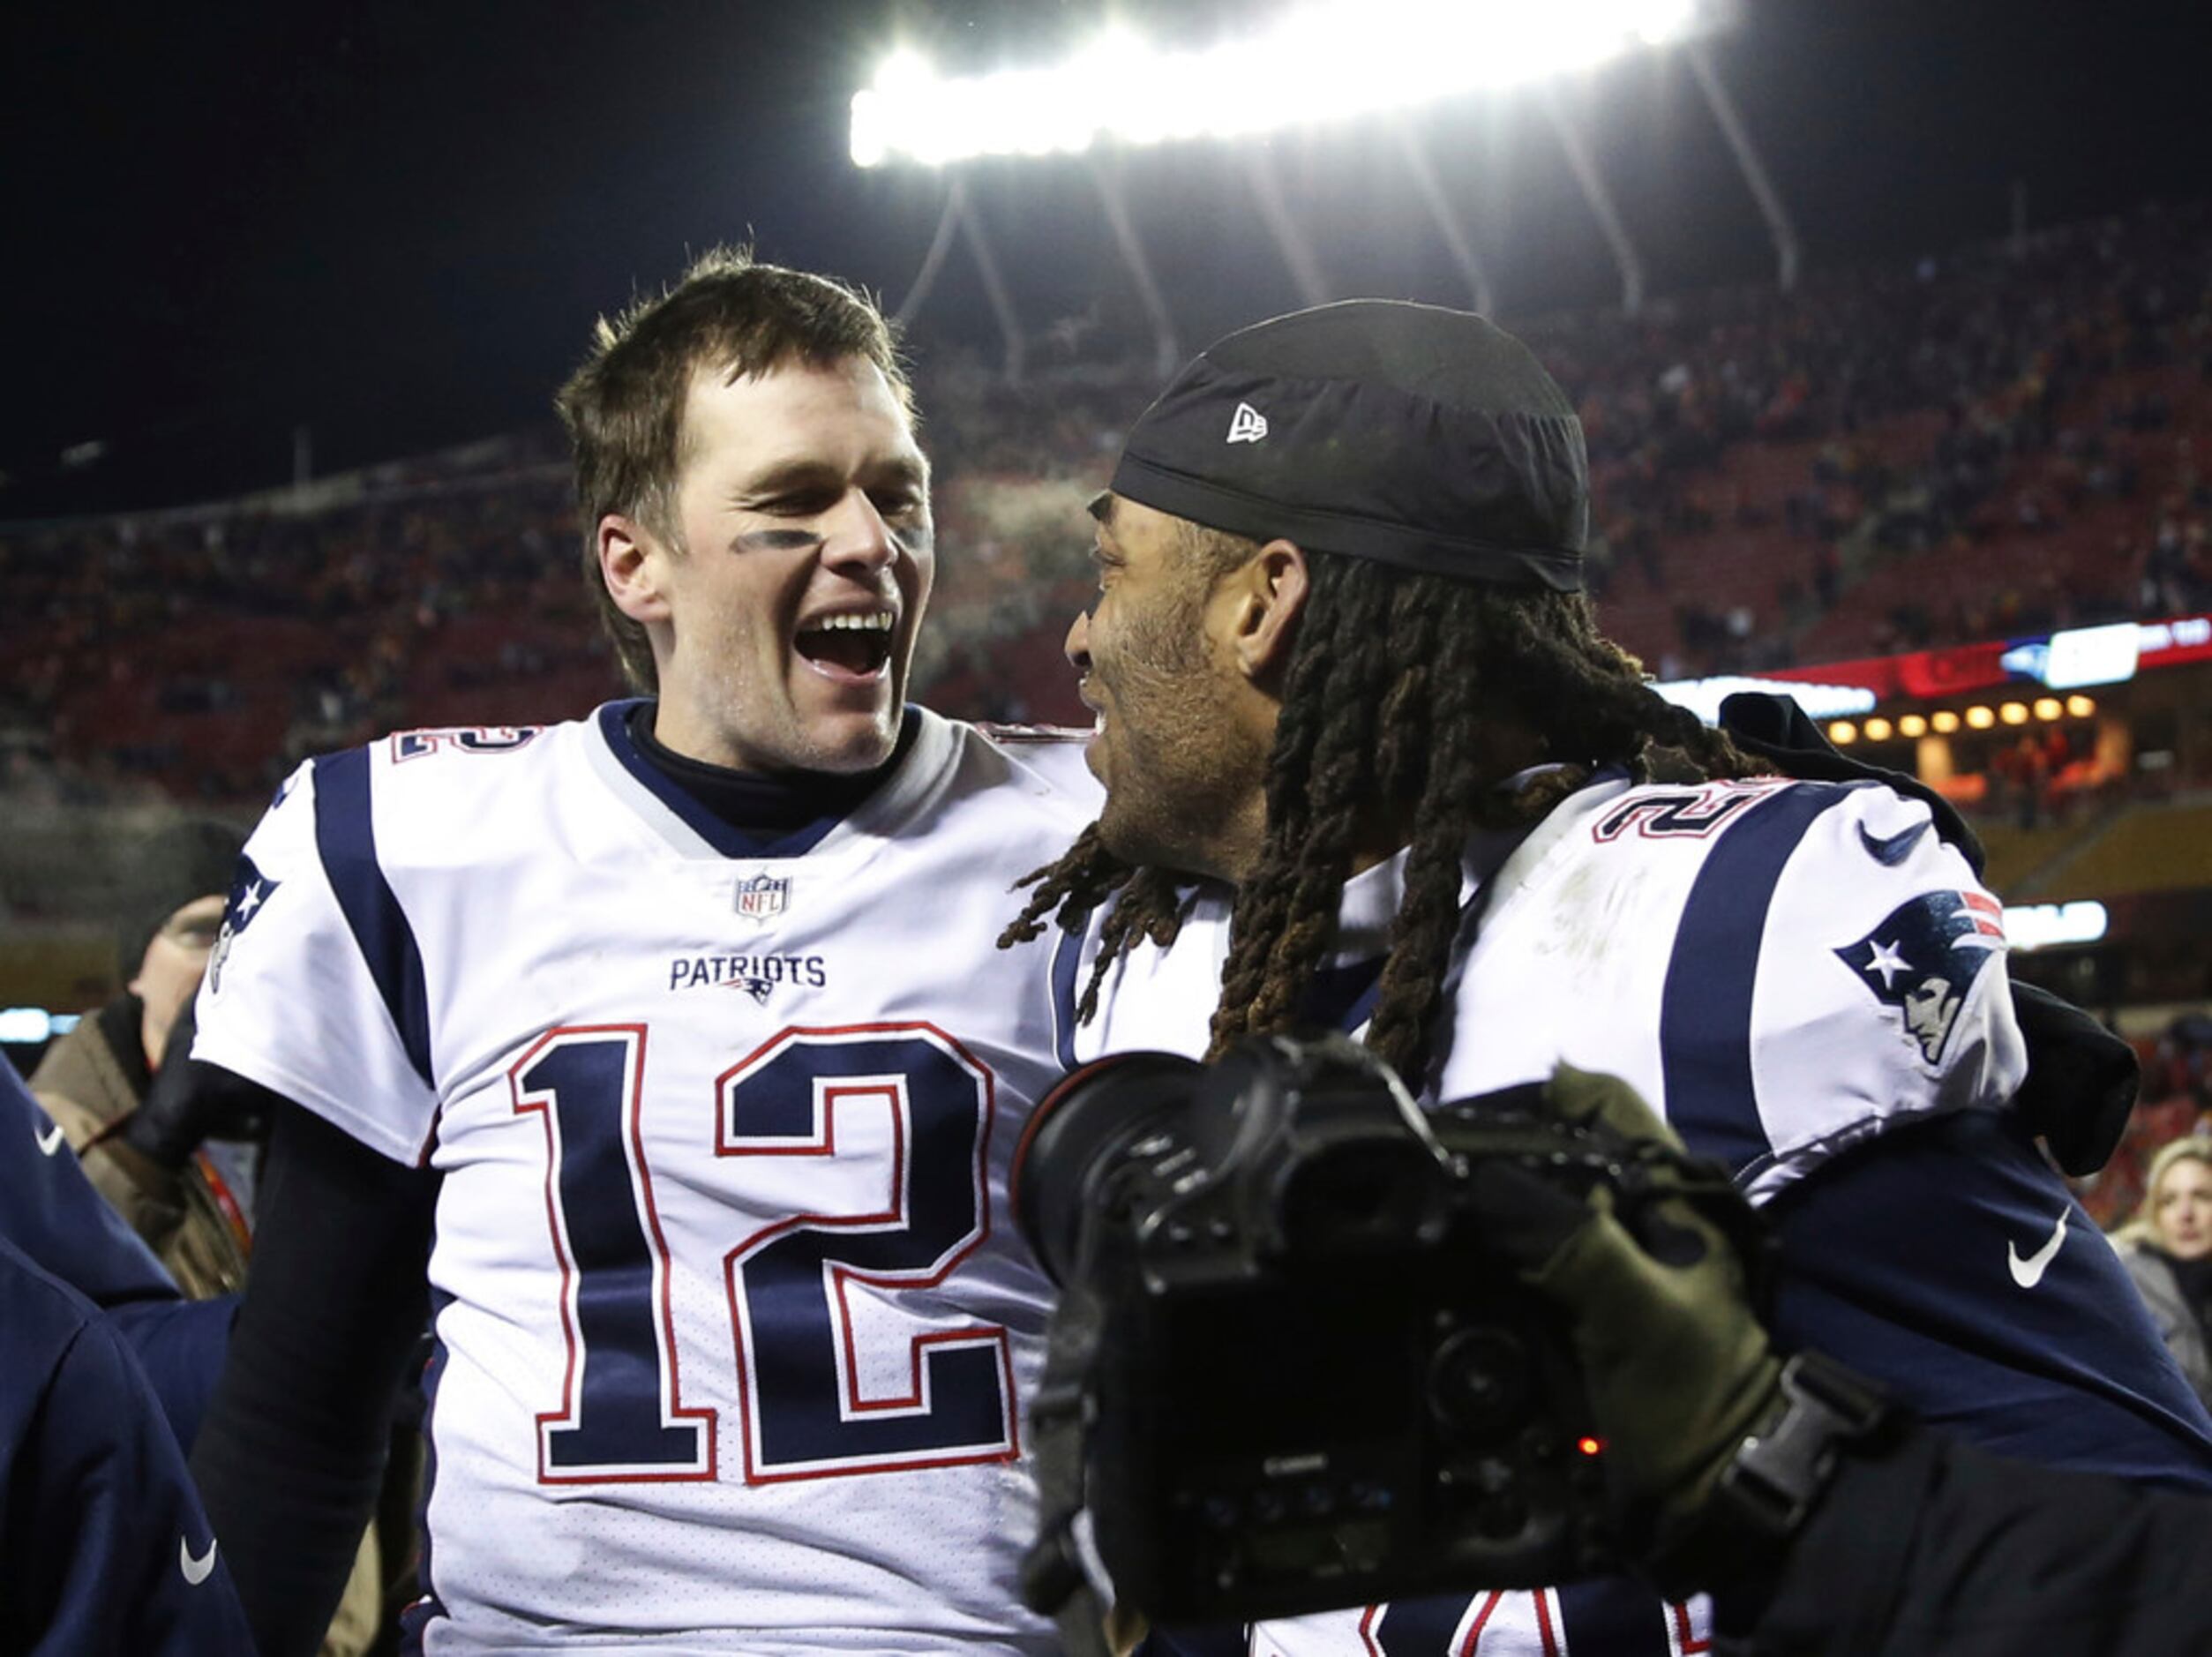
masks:
POLYGON ((1582 423, 1526 345, 1464 310, 1347 299, 1210 345, 1130 427, 1113 491, 1307 551, 1582 591, 1582 423))

